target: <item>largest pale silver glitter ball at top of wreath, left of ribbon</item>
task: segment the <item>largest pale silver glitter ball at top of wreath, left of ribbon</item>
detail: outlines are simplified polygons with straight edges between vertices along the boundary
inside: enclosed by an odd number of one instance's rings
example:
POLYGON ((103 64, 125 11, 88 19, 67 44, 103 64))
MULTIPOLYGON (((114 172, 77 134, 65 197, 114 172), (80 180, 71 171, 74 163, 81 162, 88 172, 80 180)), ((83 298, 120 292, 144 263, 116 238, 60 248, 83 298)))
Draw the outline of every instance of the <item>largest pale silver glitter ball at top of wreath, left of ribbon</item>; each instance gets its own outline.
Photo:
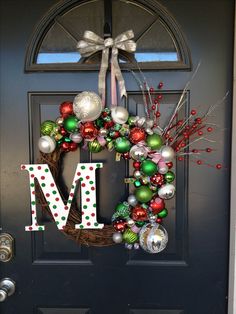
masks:
POLYGON ((73 102, 74 113, 82 122, 96 120, 102 109, 101 98, 93 92, 82 92, 75 97, 73 102))

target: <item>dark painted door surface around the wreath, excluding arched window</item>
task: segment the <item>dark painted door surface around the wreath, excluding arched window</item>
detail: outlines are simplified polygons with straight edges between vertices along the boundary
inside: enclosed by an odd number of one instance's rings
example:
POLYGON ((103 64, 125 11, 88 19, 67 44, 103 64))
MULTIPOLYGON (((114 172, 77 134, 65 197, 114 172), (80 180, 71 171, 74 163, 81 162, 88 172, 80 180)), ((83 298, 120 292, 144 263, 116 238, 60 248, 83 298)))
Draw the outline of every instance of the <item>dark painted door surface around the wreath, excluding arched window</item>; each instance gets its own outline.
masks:
MULTIPOLYGON (((233 0, 163 0, 181 25, 194 68, 183 115, 204 111, 226 94, 214 113, 216 151, 209 163, 226 169, 176 163, 177 195, 165 222, 169 245, 158 255, 127 252, 123 246, 87 248, 67 239, 45 215, 45 232, 24 232, 30 222, 27 173, 20 165, 37 160, 40 121, 58 116, 58 106, 83 90, 97 89, 97 72, 24 73, 28 40, 35 24, 56 0, 1 0, 1 227, 15 239, 15 257, 1 264, 0 278, 17 283, 15 295, 0 304, 3 314, 224 314, 227 312, 229 154, 233 51, 233 0), (30 14, 29 14, 30 12, 30 14), (220 20, 220 23, 219 23, 220 20), (29 125, 29 128, 28 128, 29 125)), ((165 84, 163 115, 170 114, 192 72, 148 71, 154 87, 165 84)), ((142 115, 139 88, 124 72, 130 112, 142 115)), ((109 75, 108 75, 109 80, 109 75)), ((109 103, 109 98, 108 98, 109 103)), ((124 200, 131 171, 114 153, 68 154, 62 177, 71 185, 75 165, 100 161, 99 220, 108 222, 124 200), (114 187, 112 189, 111 187, 114 187)))

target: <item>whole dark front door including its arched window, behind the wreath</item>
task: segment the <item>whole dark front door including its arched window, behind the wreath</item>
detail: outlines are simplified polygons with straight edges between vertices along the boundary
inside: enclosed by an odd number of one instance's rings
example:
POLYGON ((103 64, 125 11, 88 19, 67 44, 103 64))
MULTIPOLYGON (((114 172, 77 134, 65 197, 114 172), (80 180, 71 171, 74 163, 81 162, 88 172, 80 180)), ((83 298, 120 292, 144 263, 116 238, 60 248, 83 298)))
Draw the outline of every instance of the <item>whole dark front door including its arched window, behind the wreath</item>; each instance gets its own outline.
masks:
MULTIPOLYGON (((0 280, 16 283, 1 313, 227 313, 233 21, 233 0, 1 0, 1 232, 14 238, 14 257, 1 262, 0 280), (128 91, 124 105, 133 114, 143 114, 143 98, 131 68, 155 89, 164 83, 163 116, 199 62, 184 114, 204 112, 229 92, 212 113, 216 132, 214 154, 203 162, 208 166, 188 158, 177 162, 176 198, 165 220, 169 244, 160 254, 80 246, 45 215, 44 232, 24 231, 31 209, 20 165, 36 163, 40 122, 56 119, 59 105, 78 92, 97 92, 100 55, 83 63, 75 50, 87 29, 113 37, 128 29, 138 34, 136 59, 145 79, 125 55, 120 60, 128 91), (218 162, 220 171, 211 167, 218 162)), ((71 152, 63 161, 68 187, 76 164, 89 161, 104 163, 97 179, 98 218, 109 223, 128 195, 123 180, 131 167, 116 162, 114 153, 71 152)))

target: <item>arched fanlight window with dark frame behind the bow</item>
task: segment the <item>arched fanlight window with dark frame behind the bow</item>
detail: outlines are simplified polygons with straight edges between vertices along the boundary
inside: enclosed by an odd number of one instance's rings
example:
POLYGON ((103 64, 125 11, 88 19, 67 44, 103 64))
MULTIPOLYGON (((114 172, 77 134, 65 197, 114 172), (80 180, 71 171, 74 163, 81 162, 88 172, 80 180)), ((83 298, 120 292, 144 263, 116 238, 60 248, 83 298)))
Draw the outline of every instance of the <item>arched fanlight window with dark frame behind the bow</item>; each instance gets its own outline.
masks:
POLYGON ((116 37, 132 29, 133 56, 120 52, 123 69, 190 69, 185 37, 173 16, 152 0, 67 0, 59 2, 38 24, 27 50, 26 71, 97 69, 100 53, 82 58, 76 49, 85 30, 116 37))

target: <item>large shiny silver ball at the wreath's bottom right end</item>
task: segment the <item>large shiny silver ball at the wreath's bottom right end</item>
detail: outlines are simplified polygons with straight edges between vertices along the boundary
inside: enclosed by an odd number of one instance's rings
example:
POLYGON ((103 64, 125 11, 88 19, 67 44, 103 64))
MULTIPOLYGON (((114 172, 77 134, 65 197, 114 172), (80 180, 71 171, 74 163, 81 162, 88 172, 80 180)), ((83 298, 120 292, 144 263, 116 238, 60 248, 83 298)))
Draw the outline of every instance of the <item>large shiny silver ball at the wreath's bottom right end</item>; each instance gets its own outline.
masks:
POLYGON ((166 229, 157 223, 144 225, 139 233, 139 244, 148 253, 159 253, 165 249, 168 243, 166 229))

